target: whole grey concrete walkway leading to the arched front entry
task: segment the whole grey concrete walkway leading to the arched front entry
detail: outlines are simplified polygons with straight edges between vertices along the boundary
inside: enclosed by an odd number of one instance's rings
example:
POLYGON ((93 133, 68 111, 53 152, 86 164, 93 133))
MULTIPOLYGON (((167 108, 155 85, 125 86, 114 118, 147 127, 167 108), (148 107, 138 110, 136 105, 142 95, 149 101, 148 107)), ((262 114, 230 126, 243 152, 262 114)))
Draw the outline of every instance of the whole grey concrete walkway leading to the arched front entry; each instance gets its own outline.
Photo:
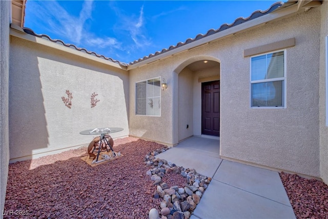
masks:
POLYGON ((278 172, 219 158, 219 140, 191 137, 158 154, 212 177, 191 219, 295 218, 278 172))

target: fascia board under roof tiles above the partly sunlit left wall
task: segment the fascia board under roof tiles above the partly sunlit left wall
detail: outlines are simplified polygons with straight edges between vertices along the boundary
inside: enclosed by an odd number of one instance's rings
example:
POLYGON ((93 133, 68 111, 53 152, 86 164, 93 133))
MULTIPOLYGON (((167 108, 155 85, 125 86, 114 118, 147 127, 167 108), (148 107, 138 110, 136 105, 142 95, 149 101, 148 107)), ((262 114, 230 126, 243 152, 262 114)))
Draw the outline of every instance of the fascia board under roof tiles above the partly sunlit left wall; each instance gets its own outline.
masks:
POLYGON ((17 30, 17 28, 11 27, 10 28, 10 35, 18 37, 18 38, 25 39, 27 41, 31 41, 31 42, 34 42, 34 43, 37 43, 37 44, 40 44, 40 45, 43 45, 43 46, 47 46, 47 47, 50 47, 50 48, 53 48, 53 49, 64 51, 64 52, 67 52, 67 53, 70 53, 70 54, 73 54, 73 55, 88 58, 88 59, 91 59, 95 62, 103 63, 105 65, 109 65, 109 66, 112 66, 112 67, 115 67, 115 68, 118 68, 118 69, 127 70, 126 66, 121 66, 117 63, 113 63, 113 62, 108 61, 106 59, 99 58, 97 56, 90 55, 88 53, 78 51, 78 50, 75 50, 73 48, 69 48, 69 47, 66 47, 64 45, 60 45, 60 44, 48 41, 47 39, 43 39, 43 38, 40 38, 40 37, 37 37, 37 36, 33 36, 31 34, 23 32, 23 31, 17 30))

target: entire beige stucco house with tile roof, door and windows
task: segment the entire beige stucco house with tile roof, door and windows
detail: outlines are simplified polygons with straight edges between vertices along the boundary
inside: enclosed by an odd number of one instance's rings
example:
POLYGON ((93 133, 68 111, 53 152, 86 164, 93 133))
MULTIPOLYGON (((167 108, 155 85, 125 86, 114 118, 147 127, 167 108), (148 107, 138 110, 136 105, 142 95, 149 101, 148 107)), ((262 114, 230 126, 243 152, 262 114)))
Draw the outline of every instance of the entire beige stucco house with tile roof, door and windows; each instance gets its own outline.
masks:
POLYGON ((224 159, 328 183, 328 2, 276 3, 130 64, 22 29, 12 4, 0 1, 2 208, 9 162, 85 145, 95 127, 169 146, 219 136, 224 159))

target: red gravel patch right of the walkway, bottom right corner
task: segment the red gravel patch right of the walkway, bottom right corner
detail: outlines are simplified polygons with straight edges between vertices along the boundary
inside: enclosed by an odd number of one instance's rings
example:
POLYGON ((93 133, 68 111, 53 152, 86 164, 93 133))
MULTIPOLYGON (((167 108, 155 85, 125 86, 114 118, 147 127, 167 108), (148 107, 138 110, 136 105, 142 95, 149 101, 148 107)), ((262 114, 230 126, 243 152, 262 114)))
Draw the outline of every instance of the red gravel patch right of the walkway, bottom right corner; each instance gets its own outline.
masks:
POLYGON ((328 186, 315 179, 280 173, 297 218, 328 218, 328 186))

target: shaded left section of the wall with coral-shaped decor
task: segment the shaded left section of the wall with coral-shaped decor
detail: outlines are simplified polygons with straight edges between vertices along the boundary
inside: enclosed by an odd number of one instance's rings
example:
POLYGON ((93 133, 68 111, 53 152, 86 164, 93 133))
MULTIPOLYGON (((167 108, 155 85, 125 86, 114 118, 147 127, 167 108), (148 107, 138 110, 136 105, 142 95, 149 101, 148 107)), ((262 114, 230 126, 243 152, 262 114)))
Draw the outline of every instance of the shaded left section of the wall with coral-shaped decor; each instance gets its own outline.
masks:
POLYGON ((10 158, 23 157, 47 148, 48 131, 37 57, 11 43, 9 70, 10 158), (28 58, 29 66, 19 65, 28 58))

